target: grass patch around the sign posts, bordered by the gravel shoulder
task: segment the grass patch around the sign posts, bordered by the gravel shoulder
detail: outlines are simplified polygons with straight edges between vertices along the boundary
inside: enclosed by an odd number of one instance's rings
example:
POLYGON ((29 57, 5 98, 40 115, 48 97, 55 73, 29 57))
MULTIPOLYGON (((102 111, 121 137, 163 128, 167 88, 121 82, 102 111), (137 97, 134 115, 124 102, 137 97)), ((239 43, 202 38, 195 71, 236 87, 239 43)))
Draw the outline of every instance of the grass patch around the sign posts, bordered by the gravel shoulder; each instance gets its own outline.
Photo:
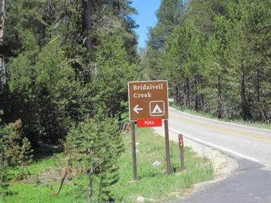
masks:
POLYGON ((139 180, 128 184, 132 178, 132 160, 130 135, 124 138, 126 153, 120 160, 121 179, 113 191, 118 201, 135 202, 137 196, 146 200, 174 200, 186 193, 193 184, 211 180, 213 170, 210 162, 199 158, 190 148, 185 148, 185 171, 179 171, 179 148, 170 142, 170 158, 172 162, 171 176, 166 175, 164 138, 155 136, 150 129, 137 129, 137 171, 139 180), (152 163, 161 162, 154 167, 152 163))

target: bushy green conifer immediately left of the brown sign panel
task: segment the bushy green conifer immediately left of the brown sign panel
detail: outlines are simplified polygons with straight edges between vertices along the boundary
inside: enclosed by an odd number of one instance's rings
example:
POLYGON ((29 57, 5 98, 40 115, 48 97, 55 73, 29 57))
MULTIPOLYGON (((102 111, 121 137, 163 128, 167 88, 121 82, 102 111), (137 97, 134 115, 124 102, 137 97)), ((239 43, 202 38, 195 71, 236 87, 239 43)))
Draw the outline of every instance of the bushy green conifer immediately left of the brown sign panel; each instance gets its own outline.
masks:
POLYGON ((95 52, 97 69, 93 76, 94 109, 103 107, 110 117, 126 111, 127 83, 135 77, 134 65, 128 62, 124 43, 118 34, 100 34, 95 52))

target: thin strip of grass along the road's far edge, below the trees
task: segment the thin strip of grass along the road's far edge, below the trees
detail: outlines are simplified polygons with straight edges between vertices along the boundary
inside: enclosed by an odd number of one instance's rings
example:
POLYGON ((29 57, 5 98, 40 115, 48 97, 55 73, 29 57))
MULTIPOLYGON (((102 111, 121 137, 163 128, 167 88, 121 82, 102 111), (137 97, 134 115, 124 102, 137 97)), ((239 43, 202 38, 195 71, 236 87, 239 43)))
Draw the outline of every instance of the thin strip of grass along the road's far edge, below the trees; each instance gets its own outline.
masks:
POLYGON ((225 122, 233 122, 233 123, 236 123, 236 124, 240 124, 240 125, 246 125, 246 126, 250 126, 250 127, 259 127, 259 128, 262 128, 262 129, 271 129, 271 124, 268 124, 268 123, 265 123, 265 122, 254 122, 254 121, 245 121, 241 118, 234 118, 234 119, 228 119, 228 118, 217 118, 216 116, 214 116, 214 114, 210 114, 210 113, 207 113, 205 111, 195 111, 195 110, 192 110, 192 109, 187 109, 185 107, 180 107, 180 106, 177 106, 175 103, 173 102, 170 102, 170 107, 173 107, 174 109, 178 109, 180 111, 183 111, 185 113, 188 113, 188 114, 192 114, 192 115, 195 115, 195 116, 201 116, 201 117, 204 117, 204 118, 212 118, 214 120, 220 120, 220 121, 225 121, 225 122))

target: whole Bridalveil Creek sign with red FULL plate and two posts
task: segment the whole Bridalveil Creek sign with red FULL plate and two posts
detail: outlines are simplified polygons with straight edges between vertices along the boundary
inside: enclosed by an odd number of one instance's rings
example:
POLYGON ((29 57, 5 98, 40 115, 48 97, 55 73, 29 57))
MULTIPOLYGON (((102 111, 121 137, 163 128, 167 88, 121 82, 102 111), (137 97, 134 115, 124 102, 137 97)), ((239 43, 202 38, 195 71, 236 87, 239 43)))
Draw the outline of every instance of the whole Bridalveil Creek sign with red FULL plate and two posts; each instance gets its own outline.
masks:
POLYGON ((165 125, 165 157, 168 175, 171 174, 170 142, 168 138, 168 81, 140 81, 128 83, 129 116, 132 123, 133 180, 137 180, 137 157, 134 123, 137 127, 165 125))

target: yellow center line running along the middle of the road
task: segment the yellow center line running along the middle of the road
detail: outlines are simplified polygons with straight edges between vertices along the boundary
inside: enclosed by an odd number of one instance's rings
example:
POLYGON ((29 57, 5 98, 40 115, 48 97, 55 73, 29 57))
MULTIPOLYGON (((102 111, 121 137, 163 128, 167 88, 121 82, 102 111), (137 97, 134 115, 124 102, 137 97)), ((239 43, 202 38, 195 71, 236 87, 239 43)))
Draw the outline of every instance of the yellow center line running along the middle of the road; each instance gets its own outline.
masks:
POLYGON ((246 138, 253 138, 255 140, 271 142, 271 138, 265 138, 265 137, 259 136, 259 135, 244 133, 244 132, 235 131, 235 130, 227 129, 227 128, 223 128, 223 127, 215 127, 214 125, 208 125, 208 124, 205 124, 203 122, 198 122, 198 121, 186 120, 184 118, 179 118, 179 117, 175 117, 175 116, 170 116, 170 118, 172 118, 174 120, 179 120, 181 122, 189 123, 189 124, 192 124, 192 125, 198 125, 198 126, 201 126, 201 127, 207 128, 207 129, 212 129, 214 131, 222 131, 222 132, 225 132, 225 133, 232 133, 235 136, 243 136, 243 137, 246 137, 246 138))

